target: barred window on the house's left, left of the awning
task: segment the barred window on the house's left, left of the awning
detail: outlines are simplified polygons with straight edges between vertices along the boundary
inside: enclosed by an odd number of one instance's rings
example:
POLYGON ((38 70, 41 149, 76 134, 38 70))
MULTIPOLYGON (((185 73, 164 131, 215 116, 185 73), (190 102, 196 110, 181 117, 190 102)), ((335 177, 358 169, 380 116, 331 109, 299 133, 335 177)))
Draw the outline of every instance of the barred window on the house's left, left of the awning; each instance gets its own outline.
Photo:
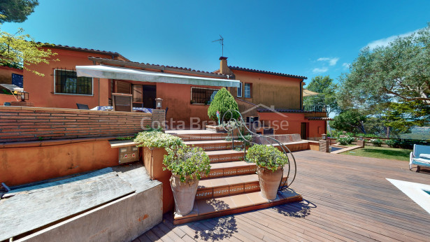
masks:
POLYGON ((92 78, 77 77, 76 71, 54 71, 55 93, 92 95, 92 78))

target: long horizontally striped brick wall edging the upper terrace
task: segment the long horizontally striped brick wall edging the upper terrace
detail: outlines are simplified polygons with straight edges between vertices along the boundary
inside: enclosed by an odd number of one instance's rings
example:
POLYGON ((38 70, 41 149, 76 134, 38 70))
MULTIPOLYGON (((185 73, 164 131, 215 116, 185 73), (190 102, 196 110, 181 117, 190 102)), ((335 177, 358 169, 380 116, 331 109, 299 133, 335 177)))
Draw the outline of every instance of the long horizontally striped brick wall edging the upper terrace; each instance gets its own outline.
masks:
POLYGON ((0 145, 14 141, 133 135, 151 124, 150 113, 0 106, 0 145))

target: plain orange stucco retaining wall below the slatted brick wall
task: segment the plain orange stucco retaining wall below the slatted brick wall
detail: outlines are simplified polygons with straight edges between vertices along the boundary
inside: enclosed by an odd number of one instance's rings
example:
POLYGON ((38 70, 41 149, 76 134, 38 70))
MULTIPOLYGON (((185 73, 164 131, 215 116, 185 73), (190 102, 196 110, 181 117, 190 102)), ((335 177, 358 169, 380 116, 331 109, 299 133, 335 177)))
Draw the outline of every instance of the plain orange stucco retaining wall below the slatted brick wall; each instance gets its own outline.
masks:
POLYGON ((117 164, 118 149, 108 141, 0 148, 0 183, 22 185, 117 164))

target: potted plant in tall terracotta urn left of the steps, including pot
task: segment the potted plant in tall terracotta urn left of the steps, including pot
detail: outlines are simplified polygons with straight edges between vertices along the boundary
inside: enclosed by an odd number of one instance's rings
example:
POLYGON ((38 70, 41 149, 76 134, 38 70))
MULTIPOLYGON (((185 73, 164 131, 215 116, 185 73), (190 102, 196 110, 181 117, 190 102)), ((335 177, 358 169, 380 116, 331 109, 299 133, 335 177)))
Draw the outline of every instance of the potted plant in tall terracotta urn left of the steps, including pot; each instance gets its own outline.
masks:
POLYGON ((210 160, 202 148, 187 145, 172 146, 166 149, 164 169, 171 171, 170 178, 175 213, 186 215, 192 211, 201 175, 210 172, 210 160))

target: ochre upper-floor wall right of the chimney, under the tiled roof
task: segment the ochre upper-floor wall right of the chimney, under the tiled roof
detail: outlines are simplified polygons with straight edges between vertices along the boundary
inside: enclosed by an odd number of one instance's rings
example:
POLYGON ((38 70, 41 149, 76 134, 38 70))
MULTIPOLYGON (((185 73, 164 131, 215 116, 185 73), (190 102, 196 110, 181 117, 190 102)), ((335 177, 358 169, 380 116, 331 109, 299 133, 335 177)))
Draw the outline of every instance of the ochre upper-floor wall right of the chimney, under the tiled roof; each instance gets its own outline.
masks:
MULTIPOLYGON (((300 85, 301 79, 282 76, 252 73, 248 71, 234 71, 237 80, 242 83, 242 98, 253 104, 275 106, 275 108, 301 108, 300 85), (252 83, 252 97, 245 98, 245 83, 252 83)), ((236 88, 230 89, 237 97, 236 88)))

